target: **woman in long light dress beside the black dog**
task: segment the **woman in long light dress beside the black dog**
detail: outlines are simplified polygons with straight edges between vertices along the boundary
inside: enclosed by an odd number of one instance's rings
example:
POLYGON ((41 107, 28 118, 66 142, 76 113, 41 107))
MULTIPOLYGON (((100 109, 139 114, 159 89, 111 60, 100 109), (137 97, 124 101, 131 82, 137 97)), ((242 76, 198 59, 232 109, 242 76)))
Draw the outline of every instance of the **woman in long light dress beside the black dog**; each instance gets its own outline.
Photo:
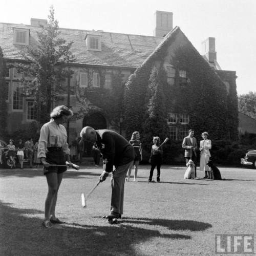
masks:
POLYGON ((208 139, 208 133, 203 132, 202 138, 203 140, 200 141, 200 170, 203 170, 205 172, 205 176, 203 179, 210 179, 210 168, 207 165, 209 159, 210 159, 210 149, 211 149, 211 140, 208 139))

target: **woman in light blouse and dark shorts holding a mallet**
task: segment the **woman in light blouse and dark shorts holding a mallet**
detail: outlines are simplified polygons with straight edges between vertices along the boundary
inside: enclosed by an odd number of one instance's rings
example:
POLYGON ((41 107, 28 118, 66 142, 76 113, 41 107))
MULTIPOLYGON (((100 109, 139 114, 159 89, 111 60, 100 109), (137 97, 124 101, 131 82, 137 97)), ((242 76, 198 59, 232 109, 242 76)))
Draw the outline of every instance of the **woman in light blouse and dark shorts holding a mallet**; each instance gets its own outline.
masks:
POLYGON ((57 201, 58 189, 62 180, 66 166, 50 166, 51 164, 65 165, 70 161, 70 150, 67 143, 67 131, 65 123, 73 112, 65 105, 56 106, 50 114, 51 120, 41 127, 38 155, 44 165, 44 174, 48 184, 48 194, 45 201, 45 219, 42 225, 51 228, 53 223, 61 224, 55 216, 55 206, 57 201))

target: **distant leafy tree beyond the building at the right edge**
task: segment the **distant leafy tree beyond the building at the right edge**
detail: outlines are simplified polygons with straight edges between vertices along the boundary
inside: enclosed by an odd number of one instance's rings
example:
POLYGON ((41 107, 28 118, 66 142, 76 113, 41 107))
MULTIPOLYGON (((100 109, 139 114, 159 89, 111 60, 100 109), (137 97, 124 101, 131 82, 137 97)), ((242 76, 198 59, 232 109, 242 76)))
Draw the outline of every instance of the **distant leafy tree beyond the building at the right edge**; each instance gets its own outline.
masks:
POLYGON ((238 110, 256 119, 256 92, 249 92, 238 97, 238 110))

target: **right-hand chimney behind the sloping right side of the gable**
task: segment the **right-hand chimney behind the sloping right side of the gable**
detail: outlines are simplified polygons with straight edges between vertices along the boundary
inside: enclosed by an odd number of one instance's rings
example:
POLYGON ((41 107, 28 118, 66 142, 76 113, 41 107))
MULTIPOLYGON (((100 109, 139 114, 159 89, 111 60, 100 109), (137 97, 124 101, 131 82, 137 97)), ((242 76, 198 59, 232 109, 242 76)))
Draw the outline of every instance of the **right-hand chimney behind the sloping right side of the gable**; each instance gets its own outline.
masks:
POLYGON ((202 55, 209 62, 210 66, 216 70, 221 70, 217 62, 217 52, 215 51, 215 37, 208 37, 202 42, 202 55))

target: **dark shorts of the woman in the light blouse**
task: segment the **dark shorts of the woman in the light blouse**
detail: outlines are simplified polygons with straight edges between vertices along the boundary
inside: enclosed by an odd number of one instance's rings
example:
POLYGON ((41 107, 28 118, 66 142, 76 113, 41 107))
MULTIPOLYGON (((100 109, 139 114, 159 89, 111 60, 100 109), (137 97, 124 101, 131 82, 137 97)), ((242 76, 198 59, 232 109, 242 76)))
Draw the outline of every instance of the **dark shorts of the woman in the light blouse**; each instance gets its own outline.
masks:
MULTIPOLYGON (((46 161, 49 164, 66 164, 66 156, 61 147, 48 147, 46 150, 46 161)), ((44 175, 49 173, 63 173, 67 170, 67 166, 50 166, 44 168, 44 175)))

